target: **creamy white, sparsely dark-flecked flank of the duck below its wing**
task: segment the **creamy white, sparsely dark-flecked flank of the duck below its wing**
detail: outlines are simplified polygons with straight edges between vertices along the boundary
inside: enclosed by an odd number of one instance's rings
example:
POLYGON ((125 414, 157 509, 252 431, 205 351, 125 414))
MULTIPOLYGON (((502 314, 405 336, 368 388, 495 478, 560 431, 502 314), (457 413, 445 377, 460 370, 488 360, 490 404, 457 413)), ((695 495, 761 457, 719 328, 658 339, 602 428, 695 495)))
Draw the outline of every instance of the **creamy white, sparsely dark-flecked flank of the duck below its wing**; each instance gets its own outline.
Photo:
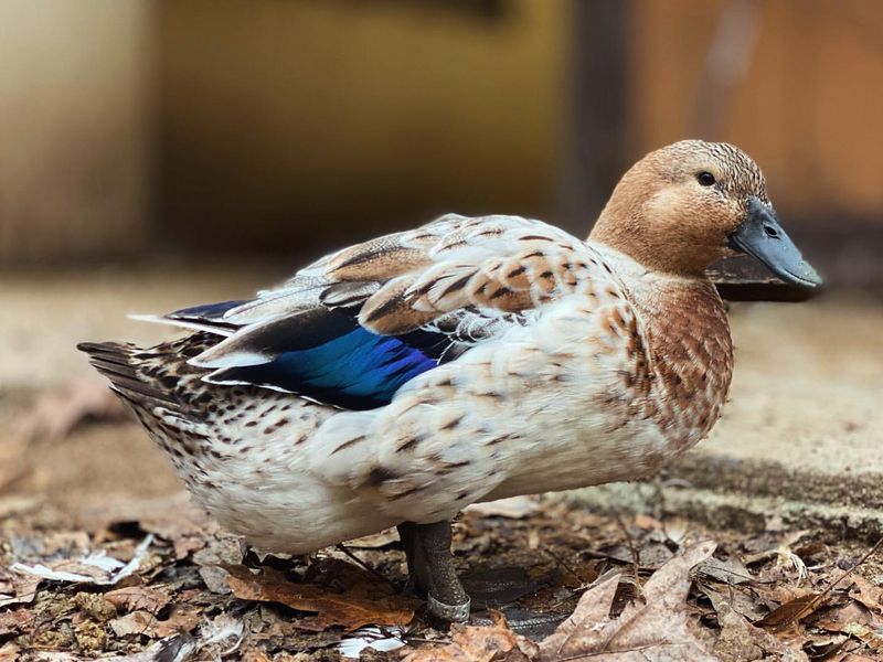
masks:
POLYGON ((418 522, 489 494, 634 478, 658 465, 668 444, 640 418, 643 346, 621 293, 563 297, 419 375, 387 407, 330 419, 311 466, 418 522))

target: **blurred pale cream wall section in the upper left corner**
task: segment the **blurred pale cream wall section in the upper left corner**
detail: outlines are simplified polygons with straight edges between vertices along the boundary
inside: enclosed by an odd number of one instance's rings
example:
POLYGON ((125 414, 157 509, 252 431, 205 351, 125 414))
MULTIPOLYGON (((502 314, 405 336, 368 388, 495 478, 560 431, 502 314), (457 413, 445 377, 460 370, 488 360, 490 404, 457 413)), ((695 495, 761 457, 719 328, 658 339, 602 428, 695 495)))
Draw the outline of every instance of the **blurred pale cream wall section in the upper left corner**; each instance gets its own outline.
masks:
POLYGON ((149 29, 146 0, 0 3, 0 266, 141 246, 149 29))

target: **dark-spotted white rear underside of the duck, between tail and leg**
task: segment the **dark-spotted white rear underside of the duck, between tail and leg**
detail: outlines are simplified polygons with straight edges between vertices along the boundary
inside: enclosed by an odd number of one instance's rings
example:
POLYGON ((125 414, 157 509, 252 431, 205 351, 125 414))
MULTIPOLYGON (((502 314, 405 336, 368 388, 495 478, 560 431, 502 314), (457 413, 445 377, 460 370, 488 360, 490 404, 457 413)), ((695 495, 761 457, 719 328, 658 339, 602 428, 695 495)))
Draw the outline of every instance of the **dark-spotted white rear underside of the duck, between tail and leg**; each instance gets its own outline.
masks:
POLYGON ((331 409, 268 394, 245 416, 222 413, 189 430, 157 415, 167 425, 148 431, 194 501, 262 551, 305 554, 398 523, 305 467, 305 446, 331 409))

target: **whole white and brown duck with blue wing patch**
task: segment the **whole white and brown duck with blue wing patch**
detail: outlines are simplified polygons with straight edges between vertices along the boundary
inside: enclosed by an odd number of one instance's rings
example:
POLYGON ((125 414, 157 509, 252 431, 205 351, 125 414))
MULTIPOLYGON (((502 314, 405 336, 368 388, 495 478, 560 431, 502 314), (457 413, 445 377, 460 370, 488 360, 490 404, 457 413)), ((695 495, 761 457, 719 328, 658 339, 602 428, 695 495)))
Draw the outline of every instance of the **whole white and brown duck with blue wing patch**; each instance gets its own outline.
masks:
POLYGON ((296 555, 396 526, 408 587, 465 621, 465 506, 648 477, 712 429, 733 342, 705 270, 734 254, 821 282, 757 164, 684 140, 623 175, 585 241, 447 214, 147 318, 175 340, 78 349, 222 526, 296 555))

